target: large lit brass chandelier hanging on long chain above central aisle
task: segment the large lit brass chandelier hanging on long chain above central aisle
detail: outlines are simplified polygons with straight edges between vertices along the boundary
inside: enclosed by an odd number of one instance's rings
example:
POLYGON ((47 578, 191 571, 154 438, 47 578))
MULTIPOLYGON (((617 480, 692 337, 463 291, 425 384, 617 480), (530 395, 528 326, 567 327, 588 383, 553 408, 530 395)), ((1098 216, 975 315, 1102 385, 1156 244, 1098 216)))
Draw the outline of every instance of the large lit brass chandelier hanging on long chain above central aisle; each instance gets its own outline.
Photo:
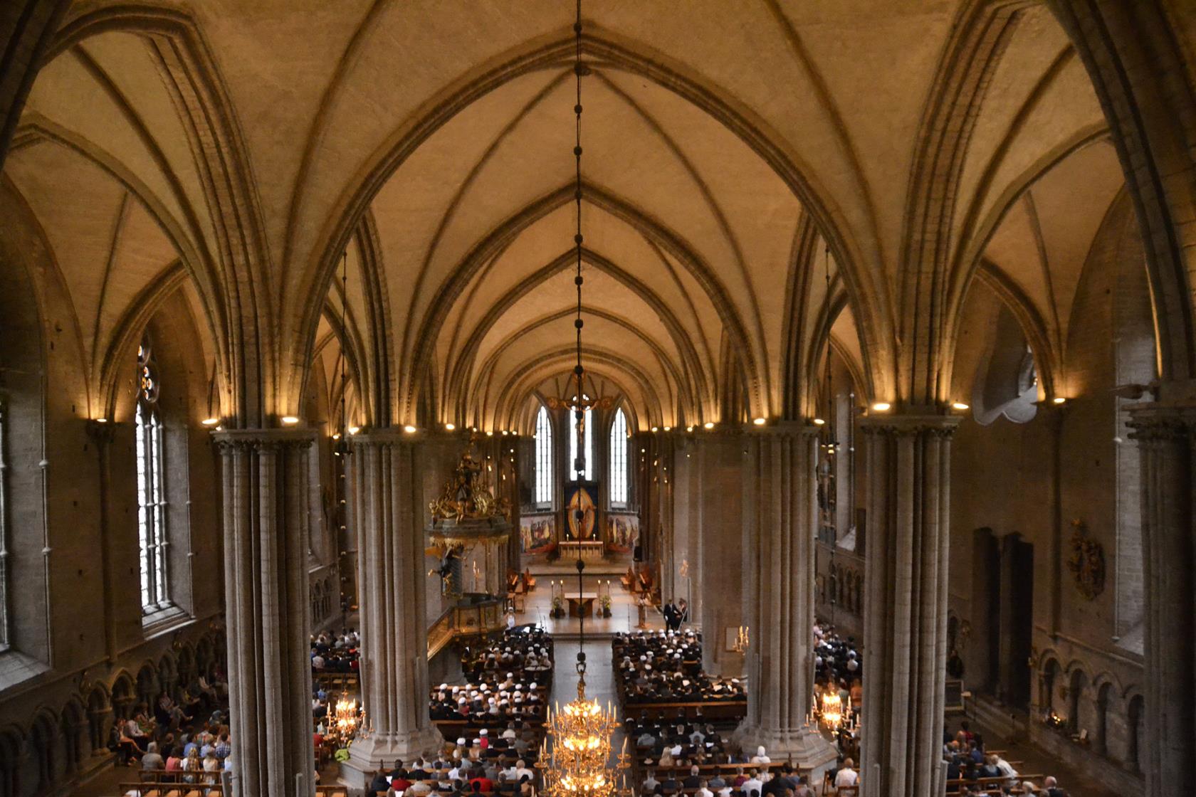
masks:
MULTIPOLYGON (((574 326, 578 331, 578 361, 573 368, 578 388, 572 405, 574 433, 578 436, 578 458, 573 462, 578 480, 585 476, 585 391, 582 380, 585 368, 581 367, 581 76, 588 69, 581 62, 581 0, 578 0, 578 17, 573 25, 576 43, 576 57, 573 72, 576 75, 578 99, 573 106, 576 115, 576 142, 573 154, 576 159, 574 201, 578 210, 578 228, 573 237, 576 251, 578 272, 574 283, 578 287, 578 317, 574 326)), ((578 510, 578 522, 585 517, 578 510)), ((581 593, 585 562, 578 553, 578 593, 581 593)), ((585 654, 585 618, 580 618, 580 642, 578 649, 578 698, 570 700, 563 709, 555 712, 549 709, 547 716, 548 734, 541 748, 537 767, 543 771, 544 793, 548 797, 614 797, 630 795, 626 785, 626 773, 629 766, 627 740, 623 740, 623 752, 618 754, 615 766, 610 766, 611 735, 618 728, 618 717, 609 704, 603 709, 598 700, 586 698, 586 654, 585 654)))

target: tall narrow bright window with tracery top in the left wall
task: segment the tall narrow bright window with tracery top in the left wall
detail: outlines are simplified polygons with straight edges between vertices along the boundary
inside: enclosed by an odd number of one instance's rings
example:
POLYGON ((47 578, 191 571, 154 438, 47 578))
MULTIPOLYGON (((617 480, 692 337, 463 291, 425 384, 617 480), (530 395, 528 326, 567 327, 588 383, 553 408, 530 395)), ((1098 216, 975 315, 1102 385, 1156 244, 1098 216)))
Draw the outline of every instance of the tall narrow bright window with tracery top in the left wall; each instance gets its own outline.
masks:
POLYGON ((141 611, 170 606, 166 572, 166 493, 163 489, 161 417, 158 374, 142 342, 138 350, 138 540, 141 546, 141 611))

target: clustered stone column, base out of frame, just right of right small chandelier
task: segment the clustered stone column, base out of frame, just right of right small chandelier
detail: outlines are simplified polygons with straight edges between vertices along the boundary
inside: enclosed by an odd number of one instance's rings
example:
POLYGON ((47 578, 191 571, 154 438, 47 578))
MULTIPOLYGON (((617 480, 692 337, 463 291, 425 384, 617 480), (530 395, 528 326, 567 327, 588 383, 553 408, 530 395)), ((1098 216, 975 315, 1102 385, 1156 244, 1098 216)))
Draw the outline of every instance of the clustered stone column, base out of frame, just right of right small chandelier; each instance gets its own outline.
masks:
POLYGON ((868 436, 864 721, 866 797, 944 790, 951 435, 958 418, 893 415, 868 436))

